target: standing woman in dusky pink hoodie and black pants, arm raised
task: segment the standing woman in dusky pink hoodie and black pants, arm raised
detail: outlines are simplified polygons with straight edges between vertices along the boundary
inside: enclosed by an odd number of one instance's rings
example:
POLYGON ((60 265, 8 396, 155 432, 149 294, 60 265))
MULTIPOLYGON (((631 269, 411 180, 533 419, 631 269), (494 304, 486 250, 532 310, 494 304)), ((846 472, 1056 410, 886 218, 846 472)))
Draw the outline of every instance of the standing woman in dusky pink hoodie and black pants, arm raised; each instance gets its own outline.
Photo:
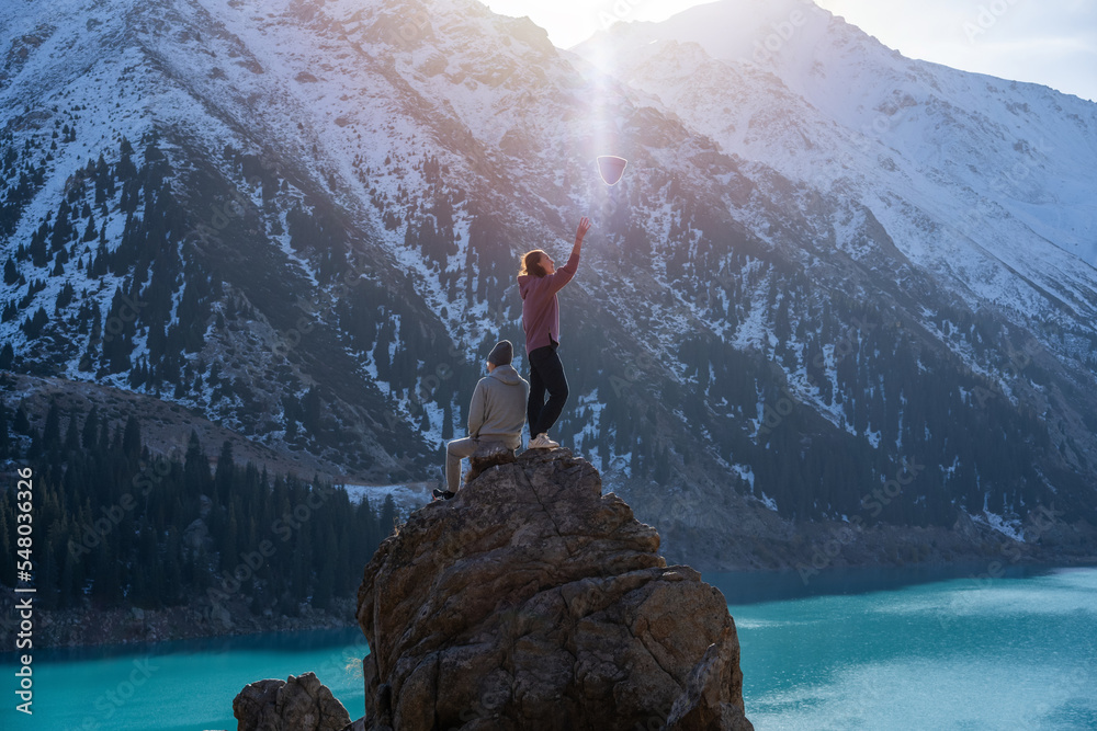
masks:
POLYGON ((525 353, 530 359, 530 400, 525 409, 530 423, 530 449, 555 449, 559 446, 548 438, 548 430, 559 419, 567 401, 564 365, 556 355, 559 347, 559 301, 556 293, 578 271, 583 237, 589 230, 590 219, 584 216, 575 233, 572 255, 567 264, 558 270, 552 258, 541 249, 522 256, 518 286, 522 293, 522 329, 525 330, 525 353), (548 392, 547 402, 545 391, 548 392))

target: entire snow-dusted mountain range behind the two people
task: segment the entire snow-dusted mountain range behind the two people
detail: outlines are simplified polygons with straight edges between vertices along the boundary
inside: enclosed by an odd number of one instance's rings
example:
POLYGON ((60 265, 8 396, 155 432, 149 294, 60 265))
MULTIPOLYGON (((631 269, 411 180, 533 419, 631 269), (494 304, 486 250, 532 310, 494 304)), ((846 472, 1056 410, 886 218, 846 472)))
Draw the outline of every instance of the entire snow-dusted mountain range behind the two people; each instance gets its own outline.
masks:
POLYGON ((769 67, 736 60, 771 32, 751 3, 704 12, 754 30, 578 54, 474 0, 8 4, 2 368, 421 480, 484 353, 522 342, 520 253, 565 255, 590 213, 559 437, 671 555, 788 564, 855 516, 1097 523, 1093 104, 799 4, 769 67), (1024 190, 979 172, 1018 160, 1024 190))

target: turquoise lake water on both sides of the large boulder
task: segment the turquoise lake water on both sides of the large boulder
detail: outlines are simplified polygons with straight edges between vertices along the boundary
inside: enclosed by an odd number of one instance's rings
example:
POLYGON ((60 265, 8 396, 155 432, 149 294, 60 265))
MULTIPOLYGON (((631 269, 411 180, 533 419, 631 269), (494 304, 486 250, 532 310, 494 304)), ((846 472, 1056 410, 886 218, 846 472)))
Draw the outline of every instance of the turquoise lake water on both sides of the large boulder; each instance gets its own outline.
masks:
MULTIPOLYGON (((1097 569, 706 574, 735 617, 747 717, 770 729, 1097 729, 1097 569), (997 573, 997 572, 996 572, 997 573), (984 575, 973 579, 972 575, 984 575)), ((316 672, 362 716, 357 628, 37 652, 2 728, 235 729, 247 683, 316 672)))

